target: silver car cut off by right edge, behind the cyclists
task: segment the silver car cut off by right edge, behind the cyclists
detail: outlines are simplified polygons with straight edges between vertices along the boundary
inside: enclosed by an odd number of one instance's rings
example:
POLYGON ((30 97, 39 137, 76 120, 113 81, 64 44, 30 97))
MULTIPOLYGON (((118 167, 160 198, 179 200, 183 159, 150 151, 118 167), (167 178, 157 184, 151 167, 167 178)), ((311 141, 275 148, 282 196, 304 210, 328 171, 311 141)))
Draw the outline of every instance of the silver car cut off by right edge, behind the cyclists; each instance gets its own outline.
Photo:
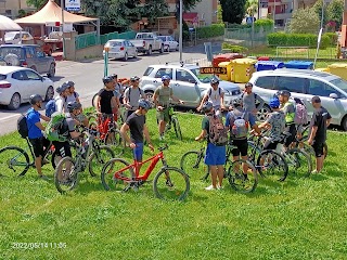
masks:
POLYGON ((254 84, 253 91, 266 103, 279 90, 291 91, 292 98, 305 103, 309 115, 313 113, 311 99, 319 95, 322 106, 332 115, 332 123, 347 131, 347 81, 338 76, 310 69, 280 68, 254 73, 249 81, 254 84))

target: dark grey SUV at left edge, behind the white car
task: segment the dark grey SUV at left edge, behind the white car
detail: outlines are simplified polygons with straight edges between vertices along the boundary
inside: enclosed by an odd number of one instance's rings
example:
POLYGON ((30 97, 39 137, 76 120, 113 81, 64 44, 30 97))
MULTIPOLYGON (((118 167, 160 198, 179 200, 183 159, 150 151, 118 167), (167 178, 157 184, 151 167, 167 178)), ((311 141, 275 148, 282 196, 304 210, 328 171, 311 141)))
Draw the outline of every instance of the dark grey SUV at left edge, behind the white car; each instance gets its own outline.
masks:
POLYGON ((0 58, 10 66, 28 67, 48 77, 55 75, 55 60, 47 56, 37 44, 2 44, 0 58))

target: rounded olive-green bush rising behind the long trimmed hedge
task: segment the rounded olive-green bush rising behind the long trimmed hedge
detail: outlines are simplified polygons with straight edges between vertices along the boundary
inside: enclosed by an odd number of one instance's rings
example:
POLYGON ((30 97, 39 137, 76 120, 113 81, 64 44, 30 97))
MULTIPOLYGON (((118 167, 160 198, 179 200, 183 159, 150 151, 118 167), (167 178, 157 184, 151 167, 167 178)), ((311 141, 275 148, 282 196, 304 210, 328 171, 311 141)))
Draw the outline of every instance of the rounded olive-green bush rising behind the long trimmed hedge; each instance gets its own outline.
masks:
POLYGON ((316 34, 319 27, 320 21, 313 9, 298 9, 291 20, 290 31, 294 34, 316 34))

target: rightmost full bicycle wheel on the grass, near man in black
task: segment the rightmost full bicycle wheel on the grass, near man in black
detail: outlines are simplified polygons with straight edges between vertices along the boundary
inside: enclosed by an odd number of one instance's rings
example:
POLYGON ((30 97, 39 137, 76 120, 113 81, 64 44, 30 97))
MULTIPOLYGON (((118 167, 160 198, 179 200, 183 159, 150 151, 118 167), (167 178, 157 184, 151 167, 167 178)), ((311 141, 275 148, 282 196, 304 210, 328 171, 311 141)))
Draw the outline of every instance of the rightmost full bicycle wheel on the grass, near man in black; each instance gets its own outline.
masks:
POLYGON ((309 177, 312 171, 310 156, 299 148, 292 148, 285 153, 288 169, 297 177, 309 177))

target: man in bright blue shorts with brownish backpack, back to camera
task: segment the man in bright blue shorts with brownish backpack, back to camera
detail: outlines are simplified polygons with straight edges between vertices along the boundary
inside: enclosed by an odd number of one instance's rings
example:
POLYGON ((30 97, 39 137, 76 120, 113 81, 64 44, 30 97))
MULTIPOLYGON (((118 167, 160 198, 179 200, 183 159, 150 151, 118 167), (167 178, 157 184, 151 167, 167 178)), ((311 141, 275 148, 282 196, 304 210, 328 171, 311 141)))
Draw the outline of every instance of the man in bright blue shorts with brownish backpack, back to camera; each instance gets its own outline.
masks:
POLYGON ((206 139, 207 141, 206 156, 204 162, 209 168, 211 185, 205 187, 205 190, 214 191, 222 187, 226 164, 226 145, 218 146, 210 142, 209 125, 211 117, 219 119, 221 123, 222 121, 220 117, 216 117, 213 102, 206 101, 202 105, 201 109, 202 112, 204 112, 205 116, 202 120, 202 131, 200 135, 195 138, 195 141, 202 141, 204 139, 206 139))

